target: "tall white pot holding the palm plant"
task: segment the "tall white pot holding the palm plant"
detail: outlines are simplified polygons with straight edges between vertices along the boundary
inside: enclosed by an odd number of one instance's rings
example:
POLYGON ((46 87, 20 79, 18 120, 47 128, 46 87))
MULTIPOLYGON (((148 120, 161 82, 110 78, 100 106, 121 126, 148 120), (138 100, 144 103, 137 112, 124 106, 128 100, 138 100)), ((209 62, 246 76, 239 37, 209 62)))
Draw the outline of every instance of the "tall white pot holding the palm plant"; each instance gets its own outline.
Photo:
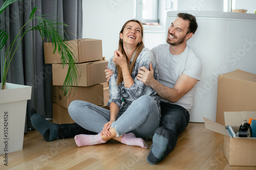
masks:
MULTIPOLYGON (((2 83, 0 83, 2 87, 2 83)), ((31 86, 6 83, 0 90, 0 155, 23 149, 27 100, 31 86)))

